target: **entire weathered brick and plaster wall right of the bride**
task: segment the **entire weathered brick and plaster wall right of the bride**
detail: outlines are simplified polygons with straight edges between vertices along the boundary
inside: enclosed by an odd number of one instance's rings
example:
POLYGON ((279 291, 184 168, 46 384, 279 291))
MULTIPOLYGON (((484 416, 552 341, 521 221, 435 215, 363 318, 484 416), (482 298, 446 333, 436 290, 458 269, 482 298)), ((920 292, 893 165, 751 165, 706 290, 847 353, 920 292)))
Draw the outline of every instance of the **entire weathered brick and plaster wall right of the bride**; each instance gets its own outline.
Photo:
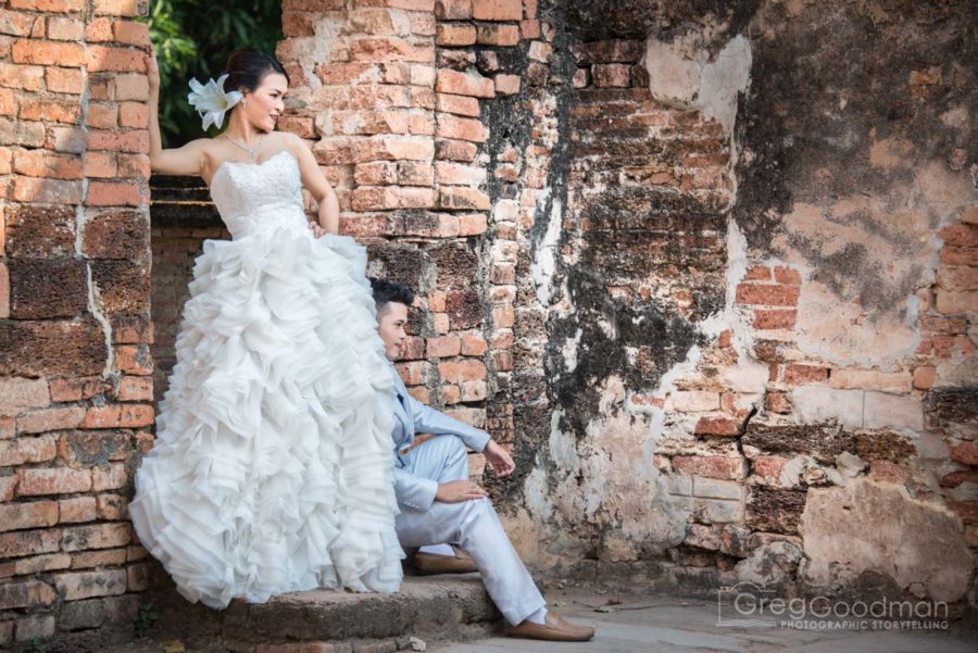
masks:
POLYGON ((923 9, 720 4, 286 2, 289 125, 421 291, 412 391, 512 447, 484 480, 534 564, 961 600, 974 51, 923 9))

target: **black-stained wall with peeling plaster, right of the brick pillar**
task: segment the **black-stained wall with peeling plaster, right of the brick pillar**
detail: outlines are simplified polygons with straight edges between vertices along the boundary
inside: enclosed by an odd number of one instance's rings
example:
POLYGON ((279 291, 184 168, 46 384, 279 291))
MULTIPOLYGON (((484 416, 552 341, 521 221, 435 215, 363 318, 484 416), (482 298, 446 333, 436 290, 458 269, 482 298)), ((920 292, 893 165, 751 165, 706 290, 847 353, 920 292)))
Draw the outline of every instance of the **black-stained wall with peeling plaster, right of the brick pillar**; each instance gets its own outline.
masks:
POLYGON ((561 121, 517 269, 524 553, 974 601, 968 3, 541 11, 561 121))

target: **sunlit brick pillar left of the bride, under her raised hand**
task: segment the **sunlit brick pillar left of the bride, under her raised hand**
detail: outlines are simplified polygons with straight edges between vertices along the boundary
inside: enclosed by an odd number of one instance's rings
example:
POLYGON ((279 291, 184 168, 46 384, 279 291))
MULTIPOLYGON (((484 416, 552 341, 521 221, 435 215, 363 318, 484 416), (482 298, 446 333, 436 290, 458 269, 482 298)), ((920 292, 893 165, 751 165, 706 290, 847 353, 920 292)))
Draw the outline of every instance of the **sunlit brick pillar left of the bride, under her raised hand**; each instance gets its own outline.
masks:
POLYGON ((146 9, 0 5, 0 646, 131 626, 145 587, 146 9))

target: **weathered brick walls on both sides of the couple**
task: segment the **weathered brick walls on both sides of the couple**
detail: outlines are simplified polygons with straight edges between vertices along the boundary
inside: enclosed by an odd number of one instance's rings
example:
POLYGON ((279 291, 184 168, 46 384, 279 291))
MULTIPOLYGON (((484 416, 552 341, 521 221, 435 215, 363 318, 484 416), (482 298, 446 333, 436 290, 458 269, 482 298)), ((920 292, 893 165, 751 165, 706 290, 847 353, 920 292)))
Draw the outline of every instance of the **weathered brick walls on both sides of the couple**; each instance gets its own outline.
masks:
MULTIPOLYGON (((8 639, 131 620, 145 573, 99 502, 151 437, 145 34, 64 2, 0 20, 8 639)), ((514 452, 531 565, 974 597, 974 16, 715 4, 286 0, 281 126, 419 292, 411 391, 514 452)), ((154 219, 160 377, 197 211, 154 219)))

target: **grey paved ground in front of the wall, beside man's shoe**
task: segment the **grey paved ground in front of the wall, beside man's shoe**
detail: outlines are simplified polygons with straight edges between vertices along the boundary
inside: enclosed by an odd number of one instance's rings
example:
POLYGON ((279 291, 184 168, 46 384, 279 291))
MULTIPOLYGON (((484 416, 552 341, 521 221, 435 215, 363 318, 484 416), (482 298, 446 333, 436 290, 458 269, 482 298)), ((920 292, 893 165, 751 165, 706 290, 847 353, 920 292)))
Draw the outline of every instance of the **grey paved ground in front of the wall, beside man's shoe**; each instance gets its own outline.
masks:
POLYGON ((795 630, 780 627, 717 626, 717 606, 677 599, 623 600, 598 594, 549 592, 563 615, 594 626, 587 643, 550 643, 509 638, 429 646, 436 653, 975 653, 975 625, 953 624, 946 631, 795 630), (607 611, 607 612, 598 612, 607 611))

